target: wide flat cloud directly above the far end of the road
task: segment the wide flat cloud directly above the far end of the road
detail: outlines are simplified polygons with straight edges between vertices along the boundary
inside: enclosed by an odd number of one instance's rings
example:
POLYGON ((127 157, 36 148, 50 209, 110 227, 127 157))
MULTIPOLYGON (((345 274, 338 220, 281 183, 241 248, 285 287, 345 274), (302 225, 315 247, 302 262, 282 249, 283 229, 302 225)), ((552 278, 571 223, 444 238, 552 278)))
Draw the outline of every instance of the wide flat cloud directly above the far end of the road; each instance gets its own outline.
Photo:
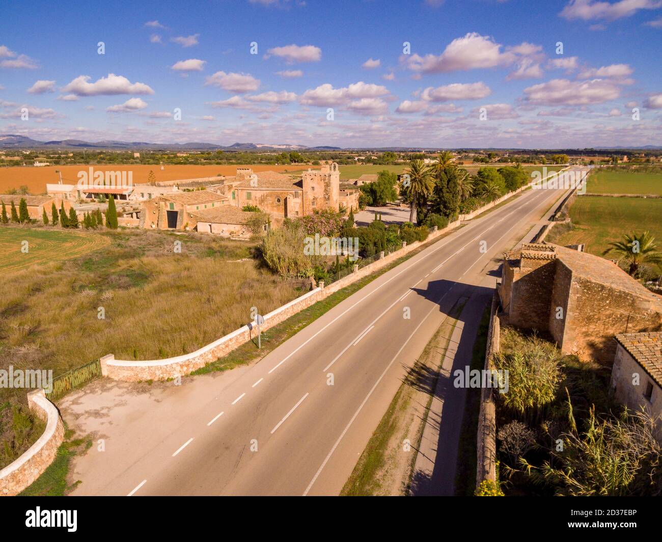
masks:
POLYGON ((616 99, 620 90, 612 81, 601 79, 553 79, 524 89, 524 94, 526 101, 538 105, 590 105, 616 99))

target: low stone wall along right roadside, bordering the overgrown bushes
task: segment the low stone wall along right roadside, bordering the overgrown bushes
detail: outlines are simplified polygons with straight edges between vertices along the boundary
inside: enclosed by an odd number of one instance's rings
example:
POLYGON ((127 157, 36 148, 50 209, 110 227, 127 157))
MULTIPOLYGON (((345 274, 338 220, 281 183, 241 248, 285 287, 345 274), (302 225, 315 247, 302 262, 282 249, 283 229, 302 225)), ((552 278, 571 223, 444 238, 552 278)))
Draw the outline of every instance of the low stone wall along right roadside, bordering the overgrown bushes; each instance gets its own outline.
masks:
MULTIPOLYGON (((490 327, 485 349, 485 370, 493 369, 492 356, 499 351, 500 323, 498 294, 492 298, 490 327)), ((478 416, 476 488, 484 480, 496 481, 496 405, 493 388, 481 389, 481 409, 478 416)))

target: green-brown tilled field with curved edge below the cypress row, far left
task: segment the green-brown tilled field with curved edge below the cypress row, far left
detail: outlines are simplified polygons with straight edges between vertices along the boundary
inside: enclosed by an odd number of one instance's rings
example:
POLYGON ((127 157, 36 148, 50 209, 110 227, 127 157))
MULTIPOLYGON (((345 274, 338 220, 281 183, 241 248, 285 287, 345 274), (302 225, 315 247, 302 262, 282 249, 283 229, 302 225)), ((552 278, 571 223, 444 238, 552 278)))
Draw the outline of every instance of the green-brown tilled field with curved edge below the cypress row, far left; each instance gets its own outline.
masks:
POLYGON ((107 237, 90 233, 3 227, 0 228, 0 254, 3 256, 0 271, 10 274, 34 264, 77 258, 100 250, 109 243, 107 237), (23 247, 27 252, 23 252, 23 247))

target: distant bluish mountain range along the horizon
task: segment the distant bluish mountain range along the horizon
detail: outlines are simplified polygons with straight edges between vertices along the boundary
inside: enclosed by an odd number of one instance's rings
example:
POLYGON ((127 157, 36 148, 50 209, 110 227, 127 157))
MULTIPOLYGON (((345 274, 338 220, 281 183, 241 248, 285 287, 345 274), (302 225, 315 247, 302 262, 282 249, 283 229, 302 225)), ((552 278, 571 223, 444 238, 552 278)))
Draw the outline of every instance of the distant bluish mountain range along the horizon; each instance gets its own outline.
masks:
MULTIPOLYGON (((102 140, 97 142, 83 141, 80 139, 63 139, 60 141, 38 141, 27 136, 5 134, 0 135, 0 149, 46 149, 54 150, 75 150, 75 149, 94 149, 94 150, 357 150, 357 151, 385 151, 395 152, 416 152, 423 150, 441 150, 446 147, 334 147, 334 146, 314 146, 292 145, 292 144, 267 144, 267 143, 234 143, 232 145, 216 145, 214 143, 190 142, 190 143, 150 143, 146 141, 116 141, 102 140)), ((532 150, 517 148, 468 148, 465 150, 532 150)), ((540 149, 536 149, 540 150, 540 149)), ((551 149, 547 149, 551 150, 551 149)), ((559 149, 557 149, 559 150, 559 149)), ((573 149, 563 149, 573 150, 573 149)), ((587 150, 587 149, 583 149, 587 150)), ((662 150, 662 146, 644 145, 638 147, 614 146, 614 147, 594 147, 594 150, 662 150)))

